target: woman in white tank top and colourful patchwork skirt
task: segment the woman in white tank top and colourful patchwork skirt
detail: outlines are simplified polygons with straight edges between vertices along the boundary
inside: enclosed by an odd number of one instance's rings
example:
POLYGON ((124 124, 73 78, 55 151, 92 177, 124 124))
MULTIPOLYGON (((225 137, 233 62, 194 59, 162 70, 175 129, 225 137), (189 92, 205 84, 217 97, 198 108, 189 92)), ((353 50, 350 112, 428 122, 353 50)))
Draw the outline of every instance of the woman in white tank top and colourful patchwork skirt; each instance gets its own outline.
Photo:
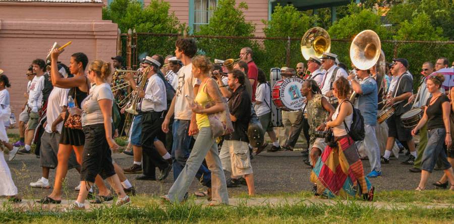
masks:
POLYGON ((328 144, 319 157, 312 170, 311 182, 316 185, 316 194, 327 197, 362 195, 364 200, 372 201, 374 188, 364 175, 355 141, 345 128, 345 124, 350 128, 353 120, 353 105, 347 100, 351 91, 349 81, 339 77, 333 87, 332 92, 339 100, 339 105, 326 127, 332 129, 336 142, 334 145, 328 144), (322 170, 336 172, 321 172, 322 170), (356 185, 359 185, 358 190, 354 190, 356 185))

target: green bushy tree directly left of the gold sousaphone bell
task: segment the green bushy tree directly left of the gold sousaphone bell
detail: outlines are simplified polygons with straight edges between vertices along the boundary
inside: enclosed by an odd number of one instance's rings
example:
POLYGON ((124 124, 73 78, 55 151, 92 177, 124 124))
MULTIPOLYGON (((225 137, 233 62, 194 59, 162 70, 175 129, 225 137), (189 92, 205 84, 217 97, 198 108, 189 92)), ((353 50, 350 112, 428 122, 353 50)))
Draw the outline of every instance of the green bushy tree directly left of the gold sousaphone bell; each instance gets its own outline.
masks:
MULTIPOLYGON (((265 24, 263 32, 266 37, 297 37, 301 38, 304 33, 312 27, 313 20, 298 11, 293 5, 274 8, 271 20, 262 20, 265 24)), ((286 65, 287 40, 264 40, 266 63, 262 65, 264 71, 271 67, 282 67, 286 65)), ((298 62, 304 60, 300 51, 300 41, 292 41, 290 45, 290 66, 294 67, 298 62)))

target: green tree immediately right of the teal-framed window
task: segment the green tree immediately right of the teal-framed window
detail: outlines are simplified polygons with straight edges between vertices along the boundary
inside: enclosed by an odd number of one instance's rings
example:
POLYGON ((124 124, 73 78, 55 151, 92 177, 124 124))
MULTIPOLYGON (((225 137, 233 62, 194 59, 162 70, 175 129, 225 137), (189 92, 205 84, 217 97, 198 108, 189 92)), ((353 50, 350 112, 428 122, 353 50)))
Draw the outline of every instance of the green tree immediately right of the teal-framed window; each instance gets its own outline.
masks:
MULTIPOLYGON (((248 6, 242 2, 235 6, 235 0, 219 0, 210 23, 200 26, 200 31, 195 35, 212 36, 241 36, 252 37, 255 25, 247 22, 243 10, 248 6)), ((230 38, 197 38, 197 46, 212 60, 237 58, 242 47, 250 46, 254 49, 254 60, 258 46, 255 41, 249 39, 230 39, 230 38)))

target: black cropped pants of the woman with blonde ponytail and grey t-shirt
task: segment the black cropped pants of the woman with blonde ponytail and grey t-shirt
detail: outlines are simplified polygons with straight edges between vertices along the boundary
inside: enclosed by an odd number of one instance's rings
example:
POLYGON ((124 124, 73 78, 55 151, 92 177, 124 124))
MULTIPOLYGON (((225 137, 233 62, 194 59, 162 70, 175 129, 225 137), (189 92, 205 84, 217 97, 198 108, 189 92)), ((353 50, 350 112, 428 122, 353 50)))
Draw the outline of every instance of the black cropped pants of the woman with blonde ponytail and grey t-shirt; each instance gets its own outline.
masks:
POLYGON ((81 181, 94 183, 96 175, 102 179, 115 175, 109 144, 105 139, 104 124, 84 126, 85 146, 80 171, 81 181))

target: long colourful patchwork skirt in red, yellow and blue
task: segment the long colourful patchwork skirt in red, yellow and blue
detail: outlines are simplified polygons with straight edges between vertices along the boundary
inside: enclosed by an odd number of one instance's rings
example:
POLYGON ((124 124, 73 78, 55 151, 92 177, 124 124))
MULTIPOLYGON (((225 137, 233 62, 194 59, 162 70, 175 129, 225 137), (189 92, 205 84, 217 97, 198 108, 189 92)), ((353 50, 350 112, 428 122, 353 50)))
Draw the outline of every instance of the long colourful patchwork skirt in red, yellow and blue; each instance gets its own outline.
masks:
POLYGON ((353 143, 352 138, 345 137, 337 141, 337 147, 326 146, 311 172, 317 194, 332 198, 369 193, 372 186, 353 143))

